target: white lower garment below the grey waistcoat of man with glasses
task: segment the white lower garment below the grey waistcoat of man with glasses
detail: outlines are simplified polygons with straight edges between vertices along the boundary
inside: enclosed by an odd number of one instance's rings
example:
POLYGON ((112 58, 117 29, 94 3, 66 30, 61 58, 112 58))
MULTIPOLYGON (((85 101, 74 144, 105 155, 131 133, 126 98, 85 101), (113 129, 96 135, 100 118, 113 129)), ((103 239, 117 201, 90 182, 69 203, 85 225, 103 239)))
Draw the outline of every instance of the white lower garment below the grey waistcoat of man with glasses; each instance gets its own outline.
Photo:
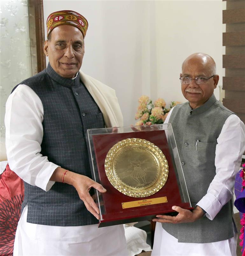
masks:
POLYGON ((151 256, 236 256, 237 233, 234 233, 234 237, 214 243, 178 243, 178 239, 167 233, 162 224, 157 222, 151 256))

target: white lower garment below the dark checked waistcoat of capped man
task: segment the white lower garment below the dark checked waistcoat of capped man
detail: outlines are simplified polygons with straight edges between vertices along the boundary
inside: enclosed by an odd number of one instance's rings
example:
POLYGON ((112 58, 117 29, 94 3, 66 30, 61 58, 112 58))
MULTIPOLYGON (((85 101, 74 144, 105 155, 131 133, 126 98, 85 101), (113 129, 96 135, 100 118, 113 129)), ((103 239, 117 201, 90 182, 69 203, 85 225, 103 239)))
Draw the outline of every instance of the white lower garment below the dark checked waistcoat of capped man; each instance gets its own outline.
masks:
POLYGON ((60 227, 18 222, 13 255, 128 255, 123 225, 60 227))

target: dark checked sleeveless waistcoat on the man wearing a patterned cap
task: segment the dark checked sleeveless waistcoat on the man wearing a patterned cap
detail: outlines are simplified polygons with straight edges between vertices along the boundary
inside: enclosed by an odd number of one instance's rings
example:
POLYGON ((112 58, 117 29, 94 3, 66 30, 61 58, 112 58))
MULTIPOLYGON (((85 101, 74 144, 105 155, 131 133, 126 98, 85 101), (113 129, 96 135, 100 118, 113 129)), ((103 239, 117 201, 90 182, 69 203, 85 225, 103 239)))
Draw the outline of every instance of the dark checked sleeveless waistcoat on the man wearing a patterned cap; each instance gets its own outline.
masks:
MULTIPOLYGON (((48 64, 46 70, 20 84, 32 88, 43 104, 40 153, 62 168, 91 178, 85 134, 87 129, 103 128, 105 124, 79 74, 75 79, 63 78, 48 64)), ((25 182, 24 188, 22 208, 28 204, 27 222, 52 226, 98 223, 72 185, 55 182, 45 192, 25 182)))

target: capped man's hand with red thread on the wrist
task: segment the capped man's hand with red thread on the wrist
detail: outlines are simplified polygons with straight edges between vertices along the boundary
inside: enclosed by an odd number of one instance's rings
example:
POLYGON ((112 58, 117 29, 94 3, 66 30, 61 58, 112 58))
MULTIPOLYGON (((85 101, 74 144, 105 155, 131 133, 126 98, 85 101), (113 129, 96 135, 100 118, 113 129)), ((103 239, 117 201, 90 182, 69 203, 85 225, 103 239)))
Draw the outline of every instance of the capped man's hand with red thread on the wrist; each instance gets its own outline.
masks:
POLYGON ((91 188, 95 188, 99 192, 104 193, 106 192, 106 189, 103 188, 101 184, 95 182, 94 180, 90 179, 87 176, 84 176, 69 170, 64 175, 65 172, 66 172, 66 169, 63 169, 61 167, 56 168, 50 180, 57 181, 57 182, 64 181, 64 183, 74 186, 74 188, 78 192, 80 199, 84 202, 88 211, 91 212, 94 215, 94 217, 99 220, 100 210, 95 204, 91 195, 89 194, 89 190, 91 188))

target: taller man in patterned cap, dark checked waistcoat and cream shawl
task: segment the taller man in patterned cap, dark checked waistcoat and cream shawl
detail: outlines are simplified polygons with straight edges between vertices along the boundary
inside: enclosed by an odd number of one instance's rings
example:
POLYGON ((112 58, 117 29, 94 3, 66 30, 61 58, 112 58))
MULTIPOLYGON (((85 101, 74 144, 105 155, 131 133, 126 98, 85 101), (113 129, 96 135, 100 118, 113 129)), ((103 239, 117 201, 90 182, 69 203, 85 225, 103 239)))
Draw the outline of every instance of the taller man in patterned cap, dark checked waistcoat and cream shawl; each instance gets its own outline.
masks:
POLYGON ((24 80, 6 103, 10 168, 25 195, 14 255, 127 255, 122 225, 97 228, 87 129, 122 126, 115 91, 83 72, 87 20, 75 11, 47 19, 47 68, 24 80))

